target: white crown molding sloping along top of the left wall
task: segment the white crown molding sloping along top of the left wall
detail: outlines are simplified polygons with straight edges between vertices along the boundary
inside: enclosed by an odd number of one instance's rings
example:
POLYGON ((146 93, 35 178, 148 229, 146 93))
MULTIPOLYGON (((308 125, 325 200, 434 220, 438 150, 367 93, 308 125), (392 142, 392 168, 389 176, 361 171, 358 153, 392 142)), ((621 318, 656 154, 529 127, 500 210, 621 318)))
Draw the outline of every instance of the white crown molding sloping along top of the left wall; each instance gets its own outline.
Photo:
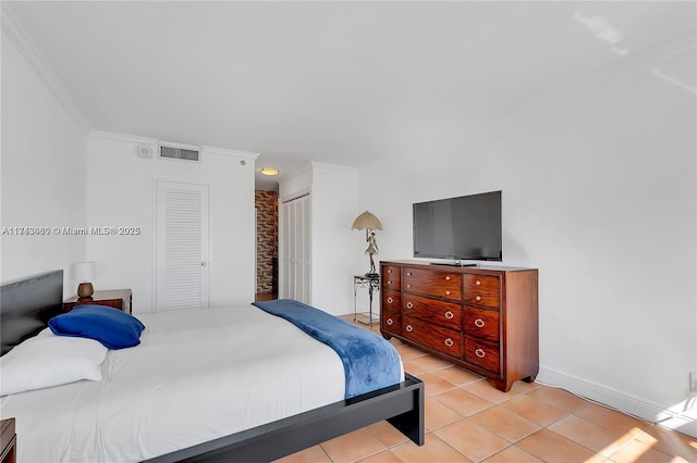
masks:
POLYGON ((49 91, 53 95, 53 97, 56 97, 65 112, 75 122, 77 127, 85 135, 89 134, 89 132, 91 130, 89 123, 85 118, 77 104, 75 104, 75 101, 70 96, 63 84, 60 82, 60 78, 51 68, 46 58, 44 58, 24 27, 22 27, 22 25, 15 17, 10 4, 3 1, 0 11, 2 32, 7 34, 7 37, 16 46, 17 50, 20 50, 20 53, 22 53, 24 59, 38 74, 39 78, 44 80, 49 91))

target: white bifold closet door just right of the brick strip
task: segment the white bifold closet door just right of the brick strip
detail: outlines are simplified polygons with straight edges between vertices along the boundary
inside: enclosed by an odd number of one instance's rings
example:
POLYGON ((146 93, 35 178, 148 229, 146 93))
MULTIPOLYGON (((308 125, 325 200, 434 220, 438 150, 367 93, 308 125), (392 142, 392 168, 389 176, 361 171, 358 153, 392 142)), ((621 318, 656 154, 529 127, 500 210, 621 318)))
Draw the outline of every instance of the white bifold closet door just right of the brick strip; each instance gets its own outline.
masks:
POLYGON ((310 198, 306 195, 281 207, 279 297, 310 303, 310 198))

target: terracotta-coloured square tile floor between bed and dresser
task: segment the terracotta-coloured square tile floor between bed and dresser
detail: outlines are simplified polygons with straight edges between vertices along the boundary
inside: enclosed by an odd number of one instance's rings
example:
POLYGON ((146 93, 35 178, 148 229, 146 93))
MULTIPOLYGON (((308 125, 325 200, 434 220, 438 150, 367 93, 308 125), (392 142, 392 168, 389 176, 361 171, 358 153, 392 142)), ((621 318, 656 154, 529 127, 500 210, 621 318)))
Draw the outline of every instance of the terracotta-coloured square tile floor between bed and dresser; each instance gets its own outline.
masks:
POLYGON ((562 389, 517 381, 500 392, 479 375, 392 342, 404 368, 426 384, 426 445, 381 422, 280 462, 697 462, 689 436, 562 389))

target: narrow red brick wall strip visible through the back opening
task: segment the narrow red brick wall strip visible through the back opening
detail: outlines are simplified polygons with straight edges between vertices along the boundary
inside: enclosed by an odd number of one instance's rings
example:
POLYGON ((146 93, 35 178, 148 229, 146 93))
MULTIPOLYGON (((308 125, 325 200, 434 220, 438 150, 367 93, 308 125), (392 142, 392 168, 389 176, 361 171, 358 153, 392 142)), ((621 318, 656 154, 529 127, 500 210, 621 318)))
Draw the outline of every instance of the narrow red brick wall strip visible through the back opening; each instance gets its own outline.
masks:
POLYGON ((256 190, 254 204, 257 209, 257 292, 276 292, 278 290, 276 267, 279 258, 279 193, 256 190))

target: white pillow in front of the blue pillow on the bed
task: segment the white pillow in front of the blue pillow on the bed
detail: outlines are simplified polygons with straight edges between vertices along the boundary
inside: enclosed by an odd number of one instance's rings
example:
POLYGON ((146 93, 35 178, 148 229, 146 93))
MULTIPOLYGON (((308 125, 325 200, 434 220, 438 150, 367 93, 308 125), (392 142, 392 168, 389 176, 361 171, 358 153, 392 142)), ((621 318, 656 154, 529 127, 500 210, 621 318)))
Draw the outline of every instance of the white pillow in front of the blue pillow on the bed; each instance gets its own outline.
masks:
POLYGON ((0 396, 99 380, 108 350, 94 339, 42 331, 0 356, 0 396))

